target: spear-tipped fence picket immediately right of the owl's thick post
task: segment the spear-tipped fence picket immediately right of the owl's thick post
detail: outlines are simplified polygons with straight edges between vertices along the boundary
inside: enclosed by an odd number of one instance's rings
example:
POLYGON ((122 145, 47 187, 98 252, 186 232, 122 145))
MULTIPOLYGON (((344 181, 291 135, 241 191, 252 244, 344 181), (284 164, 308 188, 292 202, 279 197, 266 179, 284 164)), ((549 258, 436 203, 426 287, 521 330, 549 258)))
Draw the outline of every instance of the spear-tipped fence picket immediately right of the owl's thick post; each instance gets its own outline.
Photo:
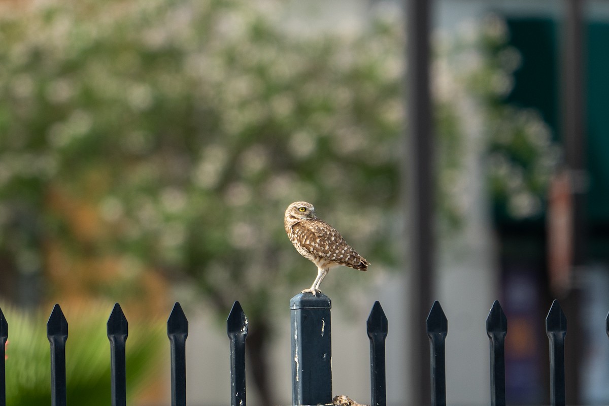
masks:
POLYGON ((385 386, 385 338, 387 338, 387 317, 381 303, 375 302, 366 323, 370 338, 370 394, 371 406, 387 405, 385 386))

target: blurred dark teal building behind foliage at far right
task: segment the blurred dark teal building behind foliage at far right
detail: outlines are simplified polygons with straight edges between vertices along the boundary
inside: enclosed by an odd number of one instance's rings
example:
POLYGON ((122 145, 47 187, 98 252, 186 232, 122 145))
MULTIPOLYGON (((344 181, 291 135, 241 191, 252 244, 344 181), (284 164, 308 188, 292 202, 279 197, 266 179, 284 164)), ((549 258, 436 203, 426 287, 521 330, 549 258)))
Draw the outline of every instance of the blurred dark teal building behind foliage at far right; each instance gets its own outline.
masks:
MULTIPOLYGON (((567 289, 580 292, 577 303, 580 326, 571 319, 571 334, 568 332, 567 340, 577 341, 577 355, 581 362, 579 373, 573 370, 566 372, 567 380, 571 380, 568 382, 568 399, 572 396, 571 399, 578 399, 582 404, 607 404, 609 399, 606 385, 600 384, 609 378, 604 331, 609 299, 597 293, 609 281, 609 161, 606 159, 609 153, 609 120, 605 101, 609 91, 606 74, 609 69, 606 49, 609 7, 602 2, 582 4, 585 179, 579 186, 572 181, 568 183, 566 187, 570 189, 549 198, 549 207, 534 219, 515 221, 501 209, 493 209, 493 233, 499 259, 496 268, 499 271, 499 298, 509 320, 507 401, 513 404, 547 402, 547 340, 542 321, 551 299, 566 297, 566 292, 552 289, 552 286, 556 288, 554 282, 557 278, 564 279, 567 289), (573 187, 583 187, 581 192, 585 194, 582 208, 584 233, 568 237, 558 247, 552 247, 558 237, 569 234, 568 227, 557 223, 571 221, 564 217, 568 217, 572 209, 569 194, 573 187), (561 205, 566 207, 561 209, 561 205), (583 267, 572 269, 569 264, 557 264, 565 250, 572 250, 574 241, 569 241, 569 238, 580 239, 585 244, 583 267), (570 275, 555 275, 561 272, 558 269, 561 265, 566 265, 566 272, 570 275), (579 382, 574 383, 573 380, 579 382), (572 393, 576 390, 579 397, 572 393)), ((439 2, 438 10, 443 21, 440 25, 445 26, 455 24, 455 16, 462 18, 466 13, 476 13, 474 9, 477 12, 492 10, 506 19, 510 44, 522 57, 521 67, 515 72, 515 86, 506 102, 540 111, 552 128, 555 139, 569 145, 563 128, 565 5, 566 2, 554 1, 447 0, 439 2)))

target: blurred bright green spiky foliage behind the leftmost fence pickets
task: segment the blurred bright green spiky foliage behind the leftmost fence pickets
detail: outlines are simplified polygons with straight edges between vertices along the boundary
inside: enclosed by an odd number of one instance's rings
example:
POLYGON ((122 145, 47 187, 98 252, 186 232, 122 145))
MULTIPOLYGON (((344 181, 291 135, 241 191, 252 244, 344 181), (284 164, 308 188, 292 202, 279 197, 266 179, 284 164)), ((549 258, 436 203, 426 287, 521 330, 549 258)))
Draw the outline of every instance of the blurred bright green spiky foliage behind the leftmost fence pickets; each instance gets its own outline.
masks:
MULTIPOLYGON (((110 404, 110 342, 106 321, 110 306, 65 310, 69 324, 66 342, 66 398, 68 403, 110 404)), ((2 306, 9 323, 6 348, 7 404, 31 406, 51 399, 51 353, 46 337, 48 315, 2 306)), ((155 377, 169 340, 158 322, 130 323, 127 339, 127 396, 132 399, 155 377)))

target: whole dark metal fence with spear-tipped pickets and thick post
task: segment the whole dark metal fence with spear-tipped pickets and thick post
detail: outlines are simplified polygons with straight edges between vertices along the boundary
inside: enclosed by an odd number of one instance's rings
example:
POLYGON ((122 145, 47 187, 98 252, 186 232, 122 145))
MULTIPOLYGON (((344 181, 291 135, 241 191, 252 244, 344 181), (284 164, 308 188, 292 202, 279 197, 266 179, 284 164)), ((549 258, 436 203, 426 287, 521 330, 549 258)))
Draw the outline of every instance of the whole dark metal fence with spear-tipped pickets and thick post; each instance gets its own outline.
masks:
MULTIPOLYGON (((290 301, 292 326, 292 404, 323 405, 332 402, 331 364, 331 301, 328 296, 311 293, 294 296, 290 301)), ((609 315, 606 320, 609 335, 609 315)), ((230 339, 231 406, 245 406, 245 338, 248 320, 235 302, 227 319, 230 339)), ((385 338, 387 317, 377 301, 367 321, 370 339, 371 405, 387 404, 385 388, 385 338)), ((565 335, 566 317, 558 301, 547 313, 546 332, 550 351, 550 401, 553 406, 565 405, 565 335)), ((446 405, 445 340, 448 321, 437 301, 427 318, 427 334, 431 344, 432 405, 446 405)), ((111 399, 113 406, 125 406, 126 371, 125 341, 128 323, 119 304, 114 305, 107 323, 110 340, 111 399)), ((490 404, 505 405, 505 335, 507 319, 498 301, 487 317, 490 340, 490 404)), ((8 323, 0 310, 0 406, 6 405, 5 343, 8 323)), ((186 337, 188 320, 179 303, 167 320, 167 336, 171 345, 171 404, 186 405, 186 337)), ((66 405, 66 359, 68 322, 58 304, 47 323, 51 345, 51 405, 66 405)))

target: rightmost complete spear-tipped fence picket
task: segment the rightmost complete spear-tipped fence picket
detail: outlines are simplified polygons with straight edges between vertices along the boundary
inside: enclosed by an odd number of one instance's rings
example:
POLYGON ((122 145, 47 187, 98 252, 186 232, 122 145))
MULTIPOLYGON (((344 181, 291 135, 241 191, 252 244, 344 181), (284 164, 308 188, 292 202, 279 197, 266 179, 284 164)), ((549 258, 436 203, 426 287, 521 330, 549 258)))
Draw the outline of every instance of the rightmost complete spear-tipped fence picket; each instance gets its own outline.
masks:
POLYGON ((565 336, 567 320, 560 303, 552 302, 546 317, 550 346, 550 404, 565 406, 565 336))

